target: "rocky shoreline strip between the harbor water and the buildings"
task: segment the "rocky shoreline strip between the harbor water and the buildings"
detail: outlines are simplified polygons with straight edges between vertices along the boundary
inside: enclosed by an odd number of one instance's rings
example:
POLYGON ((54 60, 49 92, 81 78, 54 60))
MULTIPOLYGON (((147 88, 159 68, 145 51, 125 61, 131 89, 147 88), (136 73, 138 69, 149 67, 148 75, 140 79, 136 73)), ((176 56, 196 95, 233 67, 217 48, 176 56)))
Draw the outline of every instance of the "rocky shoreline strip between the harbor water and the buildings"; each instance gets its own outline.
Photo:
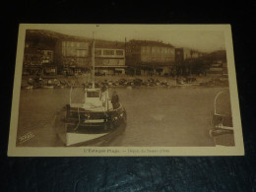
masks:
MULTIPOLYGON (((198 76, 186 78, 172 78, 160 76, 96 76, 96 88, 102 87, 176 87, 176 86, 204 86, 204 87, 228 87, 226 77, 198 76)), ((43 88, 90 88, 92 86, 90 75, 80 76, 24 76, 22 89, 43 88)))

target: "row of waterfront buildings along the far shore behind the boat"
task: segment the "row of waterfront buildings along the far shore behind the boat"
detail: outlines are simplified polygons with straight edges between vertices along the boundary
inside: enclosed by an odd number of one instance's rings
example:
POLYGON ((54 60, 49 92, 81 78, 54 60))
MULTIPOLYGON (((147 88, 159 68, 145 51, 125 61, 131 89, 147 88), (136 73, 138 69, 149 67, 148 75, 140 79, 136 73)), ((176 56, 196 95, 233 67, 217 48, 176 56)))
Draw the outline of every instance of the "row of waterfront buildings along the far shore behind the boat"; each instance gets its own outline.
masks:
MULTIPOLYGON (((92 43, 81 38, 49 31, 27 31, 24 71, 57 74, 91 71, 92 43)), ((205 53, 151 40, 125 42, 96 40, 96 75, 169 75, 187 73, 188 61, 205 53)), ((190 71, 191 72, 191 71, 190 71)))

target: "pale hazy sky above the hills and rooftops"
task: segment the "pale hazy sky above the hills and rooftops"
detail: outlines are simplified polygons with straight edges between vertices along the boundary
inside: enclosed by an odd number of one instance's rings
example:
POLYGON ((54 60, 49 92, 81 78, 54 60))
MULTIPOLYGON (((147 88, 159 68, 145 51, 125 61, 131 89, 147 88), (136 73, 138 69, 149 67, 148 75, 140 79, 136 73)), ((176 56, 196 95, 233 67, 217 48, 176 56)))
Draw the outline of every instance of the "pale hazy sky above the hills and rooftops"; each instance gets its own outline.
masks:
POLYGON ((84 25, 77 28, 65 26, 61 28, 49 29, 53 32, 61 32, 82 37, 93 37, 96 39, 125 41, 140 40, 160 40, 170 43, 175 47, 188 47, 203 52, 212 52, 225 49, 224 31, 209 30, 203 28, 170 28, 167 25, 144 26, 144 25, 84 25))

